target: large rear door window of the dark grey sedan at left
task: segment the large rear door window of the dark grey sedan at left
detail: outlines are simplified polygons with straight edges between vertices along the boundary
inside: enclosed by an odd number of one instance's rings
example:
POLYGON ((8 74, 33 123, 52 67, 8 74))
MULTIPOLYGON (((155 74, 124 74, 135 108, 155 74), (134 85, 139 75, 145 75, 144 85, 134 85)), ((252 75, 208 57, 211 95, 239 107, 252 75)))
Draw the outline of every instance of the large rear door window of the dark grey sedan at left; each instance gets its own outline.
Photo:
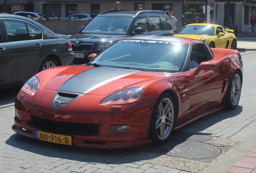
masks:
POLYGON ((11 19, 4 19, 3 21, 9 42, 29 40, 29 34, 25 22, 11 19))

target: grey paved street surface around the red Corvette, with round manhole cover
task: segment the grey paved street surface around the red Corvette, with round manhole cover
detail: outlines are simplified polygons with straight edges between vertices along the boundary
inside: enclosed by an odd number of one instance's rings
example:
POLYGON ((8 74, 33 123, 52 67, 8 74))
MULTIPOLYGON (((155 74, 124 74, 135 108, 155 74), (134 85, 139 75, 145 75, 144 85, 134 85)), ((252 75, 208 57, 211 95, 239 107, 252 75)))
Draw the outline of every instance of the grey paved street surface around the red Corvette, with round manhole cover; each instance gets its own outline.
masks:
POLYGON ((235 148, 256 134, 256 51, 241 54, 244 79, 238 107, 217 111, 174 131, 173 138, 160 147, 88 149, 23 137, 11 129, 19 89, 1 91, 0 172, 225 173, 236 162, 231 157, 235 148))

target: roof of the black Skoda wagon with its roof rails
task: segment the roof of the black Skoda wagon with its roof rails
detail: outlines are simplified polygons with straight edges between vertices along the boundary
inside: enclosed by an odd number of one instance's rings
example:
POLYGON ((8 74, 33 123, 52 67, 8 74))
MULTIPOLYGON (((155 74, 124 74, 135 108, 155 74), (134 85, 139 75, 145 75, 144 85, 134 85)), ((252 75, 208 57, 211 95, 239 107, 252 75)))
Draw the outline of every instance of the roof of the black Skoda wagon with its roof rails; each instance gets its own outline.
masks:
POLYGON ((166 16, 166 13, 158 10, 142 10, 142 11, 129 11, 129 10, 107 10, 98 16, 120 16, 120 17, 135 17, 135 16, 166 16))

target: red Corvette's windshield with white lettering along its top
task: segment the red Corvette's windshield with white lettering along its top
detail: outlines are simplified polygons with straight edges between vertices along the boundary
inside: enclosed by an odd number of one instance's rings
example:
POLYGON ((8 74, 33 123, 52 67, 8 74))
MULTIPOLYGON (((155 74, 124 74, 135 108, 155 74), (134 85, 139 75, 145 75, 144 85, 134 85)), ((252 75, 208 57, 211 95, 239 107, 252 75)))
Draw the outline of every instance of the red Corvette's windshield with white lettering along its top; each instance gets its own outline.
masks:
POLYGON ((156 40, 120 40, 89 64, 154 72, 180 72, 188 45, 156 40))

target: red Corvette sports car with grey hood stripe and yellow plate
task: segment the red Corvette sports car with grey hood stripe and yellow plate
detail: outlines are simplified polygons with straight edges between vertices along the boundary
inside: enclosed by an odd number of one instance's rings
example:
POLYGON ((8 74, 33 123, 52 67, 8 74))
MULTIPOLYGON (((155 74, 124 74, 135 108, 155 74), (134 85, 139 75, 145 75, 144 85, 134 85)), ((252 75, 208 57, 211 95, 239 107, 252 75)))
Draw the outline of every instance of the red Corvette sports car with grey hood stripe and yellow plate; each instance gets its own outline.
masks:
POLYGON ((12 129, 79 147, 161 145, 173 129, 235 109, 240 99, 237 50, 190 38, 134 36, 91 58, 29 79, 17 94, 12 129))

